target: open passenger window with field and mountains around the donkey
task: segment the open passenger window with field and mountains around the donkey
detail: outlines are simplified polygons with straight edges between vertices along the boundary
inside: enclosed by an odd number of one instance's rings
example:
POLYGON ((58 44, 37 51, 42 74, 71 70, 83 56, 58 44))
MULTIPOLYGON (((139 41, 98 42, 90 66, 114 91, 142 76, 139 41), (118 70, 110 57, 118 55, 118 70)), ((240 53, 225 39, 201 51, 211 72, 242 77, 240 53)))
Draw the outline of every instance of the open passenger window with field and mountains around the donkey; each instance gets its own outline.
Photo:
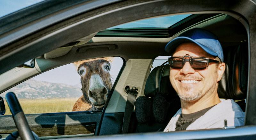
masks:
MULTIPOLYGON (((91 60, 77 61, 71 64, 60 66, 51 69, 47 72, 39 74, 27 81, 24 81, 13 88, 5 91, 1 94, 4 98, 5 94, 8 92, 14 92, 18 97, 21 107, 25 114, 38 114, 38 113, 56 113, 56 112, 71 112, 76 101, 83 96, 82 82, 84 82, 82 76, 82 71, 85 72, 86 66, 88 65, 99 65, 96 68, 108 71, 110 77, 102 76, 102 80, 107 81, 111 87, 116 81, 116 77, 119 74, 122 66, 123 60, 120 57, 109 57, 109 58, 98 58, 91 60), (106 60, 110 65, 101 63, 90 63, 92 61, 106 60), (106 65, 106 66, 102 66, 106 65), (85 67, 85 68, 80 68, 85 67), (79 71, 80 68, 80 71, 79 71), (104 69, 105 68, 105 69, 104 69), (107 70, 106 70, 107 69, 107 70), (104 79, 105 78, 105 79, 104 79), (108 79, 106 79, 108 78, 108 79)), ((95 68, 87 68, 87 73, 89 71, 96 71, 95 68)), ((102 72, 101 72, 102 73, 102 72)), ((84 75, 84 74, 83 74, 84 75)), ((89 76, 87 78, 90 78, 89 76)), ((88 82, 90 79, 86 79, 88 82)), ((84 83, 83 83, 84 84, 84 83)), ((89 83, 88 83, 89 85, 89 83)), ((11 115, 8 105, 5 105, 6 113, 5 115, 11 115)), ((95 108, 94 108, 95 109, 95 108)), ((97 108, 101 110, 102 108, 97 108)), ((73 111, 93 111, 91 107, 82 110, 73 111)))

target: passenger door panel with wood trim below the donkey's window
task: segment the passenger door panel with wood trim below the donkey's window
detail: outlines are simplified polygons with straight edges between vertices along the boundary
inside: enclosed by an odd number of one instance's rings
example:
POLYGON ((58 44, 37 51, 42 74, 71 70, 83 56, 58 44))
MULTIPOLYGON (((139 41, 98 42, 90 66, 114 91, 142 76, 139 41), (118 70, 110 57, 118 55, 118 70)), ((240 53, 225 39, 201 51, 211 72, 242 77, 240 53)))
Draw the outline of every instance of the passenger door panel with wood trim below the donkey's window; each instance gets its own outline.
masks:
MULTIPOLYGON (((39 137, 67 135, 92 136, 100 127, 102 112, 63 112, 26 115, 32 131, 39 137)), ((17 131, 11 115, 0 116, 0 135, 17 131)), ((3 135, 4 137, 6 135, 3 135)))

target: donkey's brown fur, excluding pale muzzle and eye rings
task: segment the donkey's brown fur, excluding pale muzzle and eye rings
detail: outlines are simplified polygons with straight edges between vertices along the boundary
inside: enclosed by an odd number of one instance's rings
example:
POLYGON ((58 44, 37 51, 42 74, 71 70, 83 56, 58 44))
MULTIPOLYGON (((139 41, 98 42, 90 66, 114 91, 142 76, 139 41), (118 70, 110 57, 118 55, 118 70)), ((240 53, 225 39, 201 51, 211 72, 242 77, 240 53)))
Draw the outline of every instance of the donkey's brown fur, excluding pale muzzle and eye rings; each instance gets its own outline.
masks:
MULTIPOLYGON (((84 76, 81 76, 81 84, 82 84, 82 92, 83 95, 76 101, 73 106, 72 111, 86 111, 86 110, 95 110, 96 107, 93 106, 92 102, 89 100, 88 90, 89 90, 89 81, 92 76, 92 73, 99 74, 104 86, 108 89, 108 94, 110 89, 112 88, 112 83, 110 79, 110 74, 102 70, 101 65, 103 63, 112 62, 113 58, 100 58, 100 59, 91 59, 91 60, 83 60, 75 62, 74 64, 79 70, 80 67, 86 67, 86 73, 84 76)), ((109 64, 110 65, 110 64, 109 64)), ((79 73, 79 72, 78 72, 79 73)), ((93 95, 91 95, 93 96, 93 95)), ((93 96, 94 98, 103 99, 104 95, 93 96)), ((99 99, 99 100, 100 100, 99 99)), ((106 102, 106 101, 105 101, 106 102)), ((96 108, 98 109, 98 108, 96 108)))

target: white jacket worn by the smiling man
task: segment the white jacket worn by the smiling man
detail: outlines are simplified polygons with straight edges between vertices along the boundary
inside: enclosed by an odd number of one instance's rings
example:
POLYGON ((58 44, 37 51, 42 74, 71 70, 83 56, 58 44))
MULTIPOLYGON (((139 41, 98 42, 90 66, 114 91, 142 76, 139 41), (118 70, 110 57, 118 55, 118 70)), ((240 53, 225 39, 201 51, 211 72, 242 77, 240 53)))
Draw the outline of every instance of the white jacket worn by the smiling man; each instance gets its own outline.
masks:
MULTIPOLYGON (((172 117, 164 132, 175 131, 176 122, 180 114, 181 108, 172 117)), ((228 127, 244 125, 244 112, 232 99, 222 100, 196 119, 195 122, 191 123, 186 130, 224 128, 224 120, 227 120, 228 127)))

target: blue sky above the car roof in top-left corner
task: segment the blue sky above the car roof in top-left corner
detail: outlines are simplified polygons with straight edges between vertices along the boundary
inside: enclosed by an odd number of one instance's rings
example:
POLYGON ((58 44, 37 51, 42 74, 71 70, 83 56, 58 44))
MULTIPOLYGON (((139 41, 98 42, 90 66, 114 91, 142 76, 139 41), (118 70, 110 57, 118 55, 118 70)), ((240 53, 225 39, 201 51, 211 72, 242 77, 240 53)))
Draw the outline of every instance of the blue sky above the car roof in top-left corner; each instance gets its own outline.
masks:
POLYGON ((0 1, 0 17, 8 15, 12 12, 28 7, 30 5, 42 2, 44 0, 1 0, 0 1))

